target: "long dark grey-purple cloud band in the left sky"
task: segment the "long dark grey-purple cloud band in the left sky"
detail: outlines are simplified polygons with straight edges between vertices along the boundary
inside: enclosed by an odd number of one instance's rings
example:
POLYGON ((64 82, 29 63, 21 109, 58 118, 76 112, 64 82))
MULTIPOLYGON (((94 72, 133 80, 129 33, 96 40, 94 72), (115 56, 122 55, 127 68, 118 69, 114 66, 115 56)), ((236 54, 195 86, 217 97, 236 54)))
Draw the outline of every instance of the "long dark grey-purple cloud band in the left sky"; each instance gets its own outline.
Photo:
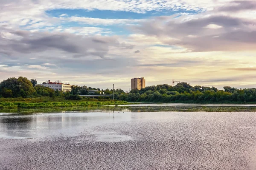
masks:
POLYGON ((29 54, 42 51, 66 52, 71 56, 101 57, 108 54, 109 47, 131 48, 131 45, 119 43, 116 37, 88 36, 59 33, 59 32, 34 32, 29 31, 20 34, 19 31, 9 30, 12 34, 20 35, 19 40, 7 40, 0 37, 0 51, 15 57, 19 54, 29 54), (100 45, 99 45, 100 43, 100 45))

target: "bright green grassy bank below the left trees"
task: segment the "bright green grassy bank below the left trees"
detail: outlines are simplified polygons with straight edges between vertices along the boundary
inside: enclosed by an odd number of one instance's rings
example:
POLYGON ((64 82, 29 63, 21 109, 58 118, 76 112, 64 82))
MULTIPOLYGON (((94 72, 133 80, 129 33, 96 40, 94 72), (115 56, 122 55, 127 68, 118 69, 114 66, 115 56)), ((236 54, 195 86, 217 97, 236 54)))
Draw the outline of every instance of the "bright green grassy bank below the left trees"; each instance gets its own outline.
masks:
POLYGON ((0 102, 0 108, 68 108, 104 105, 128 105, 125 101, 67 101, 67 102, 0 102))

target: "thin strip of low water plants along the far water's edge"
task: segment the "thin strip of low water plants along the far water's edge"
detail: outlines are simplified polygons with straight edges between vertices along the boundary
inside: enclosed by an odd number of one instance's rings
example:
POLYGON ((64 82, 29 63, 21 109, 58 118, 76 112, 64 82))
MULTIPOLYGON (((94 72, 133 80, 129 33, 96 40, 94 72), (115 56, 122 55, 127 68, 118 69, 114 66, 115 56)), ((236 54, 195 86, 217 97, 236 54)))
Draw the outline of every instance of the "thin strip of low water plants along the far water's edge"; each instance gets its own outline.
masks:
POLYGON ((124 113, 130 112, 256 112, 255 106, 204 106, 204 105, 179 105, 179 106, 129 106, 129 105, 97 105, 97 106, 73 106, 57 108, 1 108, 0 113, 60 113, 60 112, 105 112, 105 113, 124 113))

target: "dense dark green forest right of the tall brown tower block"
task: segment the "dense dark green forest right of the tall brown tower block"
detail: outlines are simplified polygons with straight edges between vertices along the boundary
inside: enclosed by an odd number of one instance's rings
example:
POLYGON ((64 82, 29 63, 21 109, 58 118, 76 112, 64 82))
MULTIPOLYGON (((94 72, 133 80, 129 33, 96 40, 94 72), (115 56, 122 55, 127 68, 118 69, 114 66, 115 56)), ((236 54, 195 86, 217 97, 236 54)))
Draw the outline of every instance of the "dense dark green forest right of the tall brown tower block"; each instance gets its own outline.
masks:
POLYGON ((192 86, 187 82, 171 85, 148 86, 141 90, 132 90, 120 100, 128 102, 198 102, 198 103, 244 103, 256 102, 256 88, 236 89, 225 86, 224 90, 215 87, 192 86))

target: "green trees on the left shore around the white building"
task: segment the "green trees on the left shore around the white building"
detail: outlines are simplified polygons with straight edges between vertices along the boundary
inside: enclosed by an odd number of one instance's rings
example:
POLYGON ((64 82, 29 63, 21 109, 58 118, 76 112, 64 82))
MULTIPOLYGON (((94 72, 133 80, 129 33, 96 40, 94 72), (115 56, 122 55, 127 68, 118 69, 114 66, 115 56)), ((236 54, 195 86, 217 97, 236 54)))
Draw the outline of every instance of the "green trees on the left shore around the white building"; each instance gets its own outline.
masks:
MULTIPOLYGON (((12 77, 0 82, 0 97, 3 98, 33 98, 49 96, 52 98, 60 97, 65 99, 80 100, 82 97, 80 95, 88 95, 91 90, 97 90, 95 94, 100 94, 102 92, 99 88, 91 88, 87 86, 77 86, 71 85, 71 91, 62 92, 54 91, 51 88, 44 87, 42 85, 37 85, 36 79, 27 79, 26 77, 12 77)), ((112 94, 113 89, 103 90, 104 94, 112 94)), ((122 89, 114 89, 115 96, 118 94, 125 94, 122 89)))

